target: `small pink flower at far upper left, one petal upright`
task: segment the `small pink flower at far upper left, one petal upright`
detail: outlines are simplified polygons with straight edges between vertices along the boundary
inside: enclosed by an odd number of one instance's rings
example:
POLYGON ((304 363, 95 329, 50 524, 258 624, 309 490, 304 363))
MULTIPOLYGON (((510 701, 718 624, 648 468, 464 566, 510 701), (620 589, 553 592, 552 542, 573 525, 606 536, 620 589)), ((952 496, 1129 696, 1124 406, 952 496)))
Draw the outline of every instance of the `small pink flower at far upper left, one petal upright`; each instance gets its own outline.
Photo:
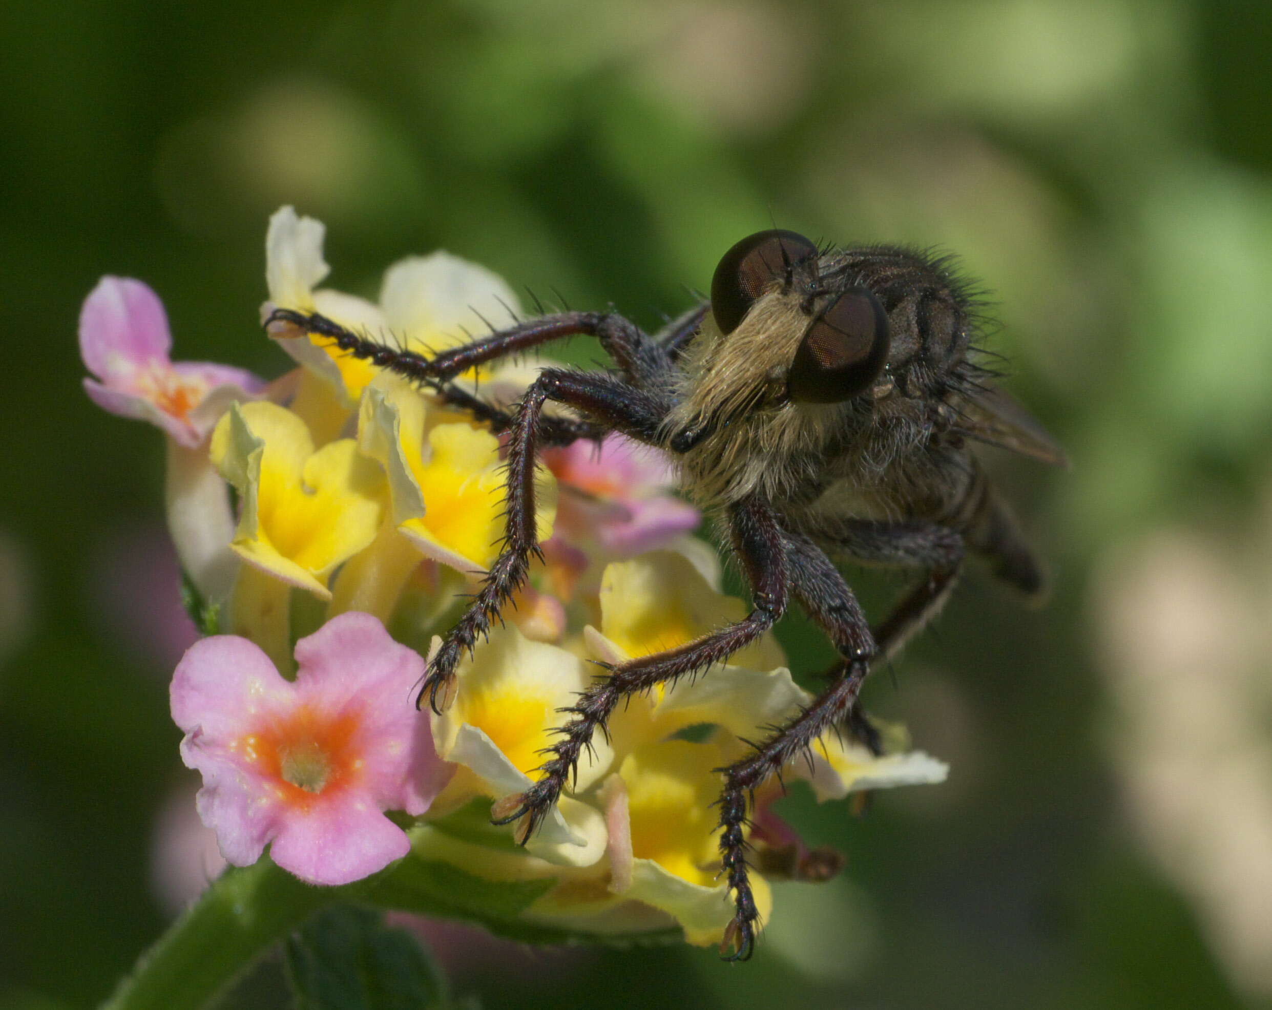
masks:
POLYGON ((265 383, 228 365, 168 357, 172 333, 159 296, 130 277, 102 277, 80 310, 80 357, 100 382, 84 379, 97 406, 150 421, 179 444, 198 445, 234 399, 265 383))

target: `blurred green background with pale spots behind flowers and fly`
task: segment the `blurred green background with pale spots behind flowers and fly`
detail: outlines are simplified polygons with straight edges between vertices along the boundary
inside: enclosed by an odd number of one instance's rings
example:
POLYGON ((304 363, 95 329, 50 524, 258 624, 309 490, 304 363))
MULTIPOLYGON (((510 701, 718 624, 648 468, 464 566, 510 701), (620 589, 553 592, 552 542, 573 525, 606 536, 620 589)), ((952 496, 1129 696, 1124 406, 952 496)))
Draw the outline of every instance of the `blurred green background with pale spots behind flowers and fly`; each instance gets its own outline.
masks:
MULTIPOLYGON (((84 397, 79 305, 141 277, 174 357, 281 373, 281 204, 327 223, 342 290, 446 248, 649 326, 772 224, 940 246, 1075 462, 985 454, 1052 604, 973 572, 875 679, 950 781, 862 818, 786 800, 848 869, 778 888, 754 962, 445 932, 460 991, 1272 1006, 1272 5, 18 0, 0 33, 0 1006, 109 991, 169 915, 154 837, 191 786, 160 436, 84 397)), ((284 999, 267 964, 230 1005, 284 999)))

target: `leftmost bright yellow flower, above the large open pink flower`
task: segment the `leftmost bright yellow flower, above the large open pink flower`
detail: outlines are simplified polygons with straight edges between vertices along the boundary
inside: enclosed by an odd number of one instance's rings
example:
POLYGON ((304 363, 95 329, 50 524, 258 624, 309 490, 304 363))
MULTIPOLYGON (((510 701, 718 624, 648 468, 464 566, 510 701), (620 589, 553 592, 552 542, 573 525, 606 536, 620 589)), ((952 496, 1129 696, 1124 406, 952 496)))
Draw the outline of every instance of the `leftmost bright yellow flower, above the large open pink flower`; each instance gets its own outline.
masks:
POLYGON ((352 439, 314 452, 304 422, 275 403, 232 407, 211 457, 242 502, 233 548, 245 561, 322 599, 341 562, 380 523, 384 478, 352 439))

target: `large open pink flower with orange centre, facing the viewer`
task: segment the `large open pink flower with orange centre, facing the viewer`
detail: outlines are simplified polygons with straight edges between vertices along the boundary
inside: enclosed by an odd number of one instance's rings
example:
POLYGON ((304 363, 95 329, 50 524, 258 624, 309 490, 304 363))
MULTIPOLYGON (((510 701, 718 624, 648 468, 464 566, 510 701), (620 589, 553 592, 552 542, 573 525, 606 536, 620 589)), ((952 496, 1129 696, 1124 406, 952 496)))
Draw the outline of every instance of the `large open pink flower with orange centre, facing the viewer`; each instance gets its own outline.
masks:
POLYGON ((287 682, 247 639, 191 647, 172 681, 181 756, 204 776, 198 815, 229 862, 271 843, 301 880, 347 884, 410 851, 383 812, 422 814, 452 767, 411 703, 424 660, 377 618, 332 618, 296 642, 296 663, 287 682))

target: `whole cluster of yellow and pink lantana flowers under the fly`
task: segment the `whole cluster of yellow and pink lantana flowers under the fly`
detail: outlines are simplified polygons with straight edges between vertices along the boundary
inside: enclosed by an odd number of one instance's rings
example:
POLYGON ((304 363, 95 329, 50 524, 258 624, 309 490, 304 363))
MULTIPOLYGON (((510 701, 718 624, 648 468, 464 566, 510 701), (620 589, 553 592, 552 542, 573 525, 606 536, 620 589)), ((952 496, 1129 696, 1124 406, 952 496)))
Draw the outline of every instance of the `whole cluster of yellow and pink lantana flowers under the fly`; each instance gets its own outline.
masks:
MULTIPOLYGON (((318 221, 290 207, 271 219, 265 315, 321 312, 430 354, 518 313, 502 280, 443 252, 391 267, 378 303, 321 287, 322 247, 318 221)), ((121 277, 103 279, 80 318, 89 396, 168 443, 169 529, 207 632, 176 669, 172 714, 225 859, 245 866, 268 847, 317 885, 444 866, 444 910, 494 929, 509 927, 490 910, 511 906, 488 901, 504 883, 530 896, 515 907, 523 926, 720 943, 733 908, 717 770, 810 701, 772 636, 619 710, 524 846, 490 823, 494 804, 532 784, 561 710, 600 664, 745 613, 721 593, 714 548, 692 536, 700 515, 674 495, 669 462, 619 435, 543 454, 543 558, 460 667, 454 702, 420 712, 426 656, 499 551, 500 439, 319 337, 277 342, 298 366, 268 383, 173 363, 159 298, 121 277)), ((482 369, 458 382, 511 403, 532 375, 482 369)), ((785 778, 826 800, 945 776, 902 747, 874 757, 828 734, 785 778)), ((796 868, 808 854, 773 813, 777 795, 756 798, 749 841, 772 856, 757 865, 796 868)), ((753 883, 767 918, 768 887, 759 873, 753 883)))

